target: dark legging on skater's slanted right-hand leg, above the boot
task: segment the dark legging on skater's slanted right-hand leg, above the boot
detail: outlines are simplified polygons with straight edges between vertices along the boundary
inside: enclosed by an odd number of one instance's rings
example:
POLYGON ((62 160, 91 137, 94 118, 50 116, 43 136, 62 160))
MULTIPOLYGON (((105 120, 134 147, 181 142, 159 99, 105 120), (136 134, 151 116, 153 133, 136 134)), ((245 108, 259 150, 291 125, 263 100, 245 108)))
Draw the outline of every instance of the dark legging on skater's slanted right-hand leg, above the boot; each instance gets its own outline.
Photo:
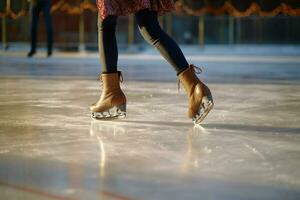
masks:
POLYGON ((161 55, 174 67, 177 75, 189 67, 182 51, 176 42, 160 27, 157 13, 141 10, 135 14, 142 36, 158 49, 161 55))

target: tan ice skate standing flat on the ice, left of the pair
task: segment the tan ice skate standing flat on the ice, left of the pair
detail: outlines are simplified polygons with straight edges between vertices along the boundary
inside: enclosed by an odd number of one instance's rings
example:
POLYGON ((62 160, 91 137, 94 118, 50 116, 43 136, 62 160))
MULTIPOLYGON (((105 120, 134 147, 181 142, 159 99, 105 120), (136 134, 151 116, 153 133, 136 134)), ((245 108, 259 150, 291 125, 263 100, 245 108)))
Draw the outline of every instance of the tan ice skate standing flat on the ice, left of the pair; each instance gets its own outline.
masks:
POLYGON ((120 88, 121 72, 102 74, 103 90, 97 103, 90 107, 92 118, 99 120, 126 117, 126 97, 120 88))

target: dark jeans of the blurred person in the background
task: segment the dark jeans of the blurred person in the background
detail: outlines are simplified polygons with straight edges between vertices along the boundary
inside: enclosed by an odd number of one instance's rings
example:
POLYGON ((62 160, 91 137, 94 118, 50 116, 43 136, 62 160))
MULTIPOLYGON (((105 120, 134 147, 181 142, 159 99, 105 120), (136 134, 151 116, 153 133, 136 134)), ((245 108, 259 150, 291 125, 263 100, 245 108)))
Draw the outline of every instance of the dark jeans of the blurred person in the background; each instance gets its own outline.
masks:
POLYGON ((31 51, 28 56, 32 56, 36 52, 37 43, 37 32, 38 32, 38 22, 40 13, 43 13, 46 30, 47 30, 47 53, 48 56, 52 54, 53 46, 53 28, 51 19, 51 0, 35 0, 32 6, 32 19, 31 19, 31 51), (30 53, 32 55, 30 55, 30 53))

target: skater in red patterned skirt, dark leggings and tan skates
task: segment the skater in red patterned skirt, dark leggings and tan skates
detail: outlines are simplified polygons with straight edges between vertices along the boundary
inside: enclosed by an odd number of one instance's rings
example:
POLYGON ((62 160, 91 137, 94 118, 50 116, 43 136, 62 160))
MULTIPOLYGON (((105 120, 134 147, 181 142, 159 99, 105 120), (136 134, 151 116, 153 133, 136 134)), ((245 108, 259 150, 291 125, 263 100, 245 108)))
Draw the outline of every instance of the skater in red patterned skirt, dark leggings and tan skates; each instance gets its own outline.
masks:
MULTIPOLYGON (((126 97, 120 88, 116 25, 120 15, 134 14, 144 39, 154 46, 173 66, 188 97, 188 117, 199 124, 213 107, 209 88, 196 76, 199 68, 189 64, 177 43, 160 27, 158 15, 173 10, 173 0, 97 0, 99 21, 98 41, 102 65, 102 95, 90 107, 95 119, 126 116, 126 97)), ((145 113, 147 115, 149 113, 145 113)), ((171 117, 171 116, 170 116, 171 117)))

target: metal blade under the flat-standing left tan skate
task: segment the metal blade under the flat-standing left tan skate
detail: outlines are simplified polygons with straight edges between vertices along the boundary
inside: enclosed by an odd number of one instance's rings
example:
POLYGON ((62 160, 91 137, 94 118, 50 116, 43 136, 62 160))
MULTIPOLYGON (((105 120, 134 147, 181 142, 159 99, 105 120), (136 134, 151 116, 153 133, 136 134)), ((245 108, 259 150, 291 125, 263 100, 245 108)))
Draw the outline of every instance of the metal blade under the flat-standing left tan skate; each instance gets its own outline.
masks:
POLYGON ((96 120, 123 119, 126 117, 126 105, 114 106, 104 112, 92 112, 91 117, 96 120))

